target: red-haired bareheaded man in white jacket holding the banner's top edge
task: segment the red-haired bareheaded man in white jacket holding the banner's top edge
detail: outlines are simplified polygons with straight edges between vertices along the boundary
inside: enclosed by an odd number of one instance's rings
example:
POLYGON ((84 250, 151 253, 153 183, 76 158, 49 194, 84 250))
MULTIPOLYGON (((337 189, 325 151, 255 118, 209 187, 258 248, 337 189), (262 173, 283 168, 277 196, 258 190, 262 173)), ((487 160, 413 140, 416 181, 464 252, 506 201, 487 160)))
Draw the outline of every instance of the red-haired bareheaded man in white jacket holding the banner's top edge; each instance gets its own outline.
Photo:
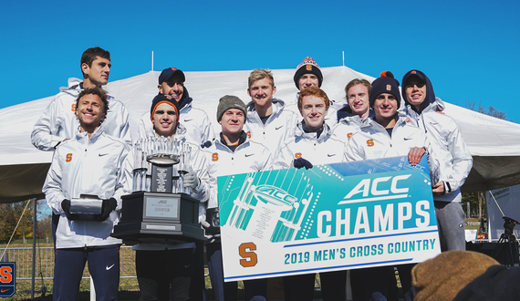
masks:
MULTIPOLYGON (((298 109, 303 120, 296 125, 296 133, 287 138, 277 153, 274 169, 302 168, 313 165, 347 161, 345 143, 332 137, 325 122, 330 100, 327 94, 316 86, 304 88, 298 97, 298 109)), ((312 300, 315 274, 284 277, 286 301, 312 300)), ((320 273, 323 300, 345 300, 345 271, 320 273)))

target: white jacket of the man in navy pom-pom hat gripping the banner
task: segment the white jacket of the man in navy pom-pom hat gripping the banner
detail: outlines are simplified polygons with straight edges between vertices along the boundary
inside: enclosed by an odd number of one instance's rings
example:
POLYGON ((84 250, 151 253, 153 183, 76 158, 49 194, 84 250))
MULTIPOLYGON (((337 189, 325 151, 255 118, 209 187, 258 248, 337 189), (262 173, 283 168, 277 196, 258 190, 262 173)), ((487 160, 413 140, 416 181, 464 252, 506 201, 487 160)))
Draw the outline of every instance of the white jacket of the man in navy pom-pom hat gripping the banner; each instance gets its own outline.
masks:
POLYGON ((387 130, 374 119, 363 119, 359 131, 347 143, 348 161, 360 161, 408 155, 413 147, 428 144, 422 131, 411 123, 411 119, 400 115, 392 130, 387 130))

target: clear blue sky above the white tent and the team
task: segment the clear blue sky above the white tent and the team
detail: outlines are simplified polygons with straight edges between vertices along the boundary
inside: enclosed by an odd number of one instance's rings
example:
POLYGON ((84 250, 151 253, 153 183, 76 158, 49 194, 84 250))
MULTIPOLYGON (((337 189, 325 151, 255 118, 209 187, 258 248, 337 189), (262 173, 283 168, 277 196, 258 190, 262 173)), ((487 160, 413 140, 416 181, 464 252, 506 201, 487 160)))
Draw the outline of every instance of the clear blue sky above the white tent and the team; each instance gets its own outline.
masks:
MULTIPOLYGON (((81 77, 88 47, 110 51, 110 81, 154 69, 295 68, 304 57, 399 80, 417 68, 437 96, 510 101, 520 60, 520 3, 504 1, 9 1, 0 10, 0 108, 57 94, 81 77)), ((218 85, 209 82, 208 88, 218 85)), ((515 92, 513 92, 515 93, 515 92)))

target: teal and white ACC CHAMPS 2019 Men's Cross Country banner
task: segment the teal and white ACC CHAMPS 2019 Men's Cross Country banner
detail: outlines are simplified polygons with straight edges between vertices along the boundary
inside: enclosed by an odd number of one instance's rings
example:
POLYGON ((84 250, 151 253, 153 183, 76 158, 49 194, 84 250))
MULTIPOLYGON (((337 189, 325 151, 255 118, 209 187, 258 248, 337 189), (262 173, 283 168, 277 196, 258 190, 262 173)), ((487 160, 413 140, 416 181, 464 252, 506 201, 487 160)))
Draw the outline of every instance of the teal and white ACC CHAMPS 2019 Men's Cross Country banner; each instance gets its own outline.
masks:
POLYGON ((223 176, 224 281, 422 262, 441 253, 428 163, 407 157, 223 176))

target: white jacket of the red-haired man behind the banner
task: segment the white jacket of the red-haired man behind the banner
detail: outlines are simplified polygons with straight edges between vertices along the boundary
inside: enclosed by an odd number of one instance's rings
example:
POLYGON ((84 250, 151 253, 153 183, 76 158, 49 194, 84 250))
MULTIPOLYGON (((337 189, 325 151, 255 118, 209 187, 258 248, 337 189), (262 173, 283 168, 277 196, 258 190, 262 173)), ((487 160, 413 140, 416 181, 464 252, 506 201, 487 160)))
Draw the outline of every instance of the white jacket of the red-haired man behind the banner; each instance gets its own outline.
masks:
POLYGON ((303 158, 313 165, 345 162, 345 143, 332 137, 327 123, 323 124, 323 131, 317 138, 316 132, 306 133, 302 123, 298 123, 296 133, 286 140, 286 144, 276 155, 273 169, 287 169, 294 167, 297 158, 303 158))

